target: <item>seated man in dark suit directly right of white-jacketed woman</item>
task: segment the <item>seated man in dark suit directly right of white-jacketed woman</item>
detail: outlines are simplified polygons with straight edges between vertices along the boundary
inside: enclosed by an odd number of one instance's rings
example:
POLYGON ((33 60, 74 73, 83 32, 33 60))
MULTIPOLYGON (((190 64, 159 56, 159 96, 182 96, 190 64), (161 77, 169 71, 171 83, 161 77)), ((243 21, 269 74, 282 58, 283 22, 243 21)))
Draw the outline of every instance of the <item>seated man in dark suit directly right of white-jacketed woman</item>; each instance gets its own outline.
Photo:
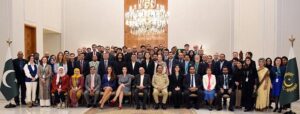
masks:
MULTIPOLYGON (((229 110, 233 111, 235 106, 235 81, 233 76, 228 74, 228 67, 223 67, 222 72, 217 78, 217 110, 222 110, 222 97, 227 94, 230 96, 229 110)), ((223 104, 226 106, 226 98, 224 98, 223 104)))

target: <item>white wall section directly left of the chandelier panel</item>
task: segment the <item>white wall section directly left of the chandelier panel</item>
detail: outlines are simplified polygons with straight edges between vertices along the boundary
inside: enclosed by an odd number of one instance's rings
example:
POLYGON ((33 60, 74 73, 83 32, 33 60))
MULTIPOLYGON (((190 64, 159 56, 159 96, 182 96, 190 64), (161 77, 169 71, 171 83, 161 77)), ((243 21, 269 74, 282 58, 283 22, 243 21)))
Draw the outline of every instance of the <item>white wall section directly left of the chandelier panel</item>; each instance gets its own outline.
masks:
POLYGON ((64 48, 124 45, 124 0, 65 0, 64 48))

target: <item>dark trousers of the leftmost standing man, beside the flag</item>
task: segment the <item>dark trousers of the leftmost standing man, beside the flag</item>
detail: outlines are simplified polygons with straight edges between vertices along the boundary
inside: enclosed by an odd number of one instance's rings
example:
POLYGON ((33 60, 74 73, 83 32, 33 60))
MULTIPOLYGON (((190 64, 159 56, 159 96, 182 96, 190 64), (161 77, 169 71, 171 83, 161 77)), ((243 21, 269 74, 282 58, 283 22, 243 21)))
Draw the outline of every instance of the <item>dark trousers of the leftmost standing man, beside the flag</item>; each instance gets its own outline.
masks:
POLYGON ((17 90, 19 91, 20 88, 21 88, 21 92, 18 92, 19 94, 14 98, 16 104, 20 104, 20 98, 19 98, 20 93, 21 93, 21 103, 26 103, 25 102, 25 98, 26 98, 26 85, 25 85, 25 82, 18 81, 17 90))

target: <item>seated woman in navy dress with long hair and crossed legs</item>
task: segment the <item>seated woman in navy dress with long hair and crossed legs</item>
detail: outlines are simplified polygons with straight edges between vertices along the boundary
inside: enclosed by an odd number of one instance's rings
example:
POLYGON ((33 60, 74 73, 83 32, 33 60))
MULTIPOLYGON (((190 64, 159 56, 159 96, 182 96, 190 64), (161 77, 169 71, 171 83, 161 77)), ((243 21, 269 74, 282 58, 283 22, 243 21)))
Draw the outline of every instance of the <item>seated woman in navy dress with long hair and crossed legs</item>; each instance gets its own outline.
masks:
POLYGON ((116 77, 111 66, 107 67, 107 74, 104 74, 101 86, 103 88, 103 96, 99 101, 100 109, 103 109, 104 103, 110 98, 111 93, 116 88, 116 77))

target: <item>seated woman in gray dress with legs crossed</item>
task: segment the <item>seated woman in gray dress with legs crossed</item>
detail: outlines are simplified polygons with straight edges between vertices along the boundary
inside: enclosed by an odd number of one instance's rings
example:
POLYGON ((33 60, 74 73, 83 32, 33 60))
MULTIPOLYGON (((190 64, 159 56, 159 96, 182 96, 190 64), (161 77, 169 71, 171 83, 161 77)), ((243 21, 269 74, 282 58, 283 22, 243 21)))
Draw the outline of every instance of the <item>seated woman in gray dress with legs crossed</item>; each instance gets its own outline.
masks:
POLYGON ((133 75, 127 74, 127 68, 122 68, 123 74, 118 75, 119 87, 117 89, 115 97, 111 100, 111 103, 114 104, 119 97, 119 109, 122 109, 122 101, 124 94, 129 94, 131 89, 131 79, 133 75))

